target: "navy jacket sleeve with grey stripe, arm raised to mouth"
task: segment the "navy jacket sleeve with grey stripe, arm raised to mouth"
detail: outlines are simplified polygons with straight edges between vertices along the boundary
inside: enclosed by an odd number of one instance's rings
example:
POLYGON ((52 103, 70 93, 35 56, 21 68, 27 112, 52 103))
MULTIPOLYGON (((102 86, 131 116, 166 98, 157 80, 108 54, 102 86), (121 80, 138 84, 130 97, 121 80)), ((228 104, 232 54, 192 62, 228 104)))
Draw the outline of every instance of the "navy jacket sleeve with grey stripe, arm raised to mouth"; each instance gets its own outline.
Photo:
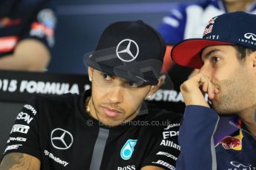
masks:
POLYGON ((219 116, 205 106, 186 106, 180 126, 179 143, 182 149, 177 170, 217 169, 213 135, 219 116))

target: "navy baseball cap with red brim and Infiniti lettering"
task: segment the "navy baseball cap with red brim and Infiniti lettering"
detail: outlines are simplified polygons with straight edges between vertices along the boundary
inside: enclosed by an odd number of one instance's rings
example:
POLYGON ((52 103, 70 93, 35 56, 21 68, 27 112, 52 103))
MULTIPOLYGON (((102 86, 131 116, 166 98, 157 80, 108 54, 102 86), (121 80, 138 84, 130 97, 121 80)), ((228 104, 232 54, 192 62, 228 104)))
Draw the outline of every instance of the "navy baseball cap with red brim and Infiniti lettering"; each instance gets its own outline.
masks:
POLYGON ((175 45, 172 60, 184 67, 200 69, 203 49, 214 45, 240 45, 256 50, 256 15, 245 12, 224 13, 211 18, 203 38, 191 38, 175 45))

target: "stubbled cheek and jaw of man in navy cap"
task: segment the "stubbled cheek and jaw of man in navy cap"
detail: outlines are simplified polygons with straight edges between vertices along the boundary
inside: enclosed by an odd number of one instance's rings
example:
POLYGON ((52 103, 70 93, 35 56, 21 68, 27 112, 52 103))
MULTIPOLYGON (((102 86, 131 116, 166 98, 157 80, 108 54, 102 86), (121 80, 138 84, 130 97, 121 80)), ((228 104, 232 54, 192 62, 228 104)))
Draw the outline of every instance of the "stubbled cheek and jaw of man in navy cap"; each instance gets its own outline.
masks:
POLYGON ((250 76, 246 70, 237 69, 229 79, 215 84, 219 86, 220 93, 212 101, 212 106, 220 115, 237 114, 252 106, 255 94, 251 92, 250 76))

